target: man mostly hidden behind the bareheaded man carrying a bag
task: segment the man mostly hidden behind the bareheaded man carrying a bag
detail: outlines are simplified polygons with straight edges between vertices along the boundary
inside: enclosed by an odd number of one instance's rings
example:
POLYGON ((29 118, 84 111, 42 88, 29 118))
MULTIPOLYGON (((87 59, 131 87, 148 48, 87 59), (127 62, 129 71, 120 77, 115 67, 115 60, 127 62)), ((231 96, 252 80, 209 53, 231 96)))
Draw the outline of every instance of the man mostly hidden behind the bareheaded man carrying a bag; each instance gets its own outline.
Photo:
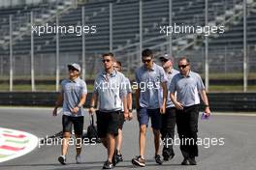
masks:
MULTIPOLYGON (((122 71, 122 64, 119 61, 115 61, 113 63, 113 68, 115 71, 122 71)), ((129 111, 128 120, 131 121, 133 119, 133 109, 132 109, 132 88, 130 80, 125 77, 125 83, 126 83, 126 93, 127 93, 127 107, 129 111)), ((121 155, 121 147, 122 147, 122 128, 124 124, 124 116, 123 116, 123 109, 122 109, 122 115, 119 119, 119 126, 118 126, 118 136, 115 138, 116 143, 116 150, 115 150, 115 156, 116 156, 116 163, 119 161, 123 161, 122 155, 121 155)))

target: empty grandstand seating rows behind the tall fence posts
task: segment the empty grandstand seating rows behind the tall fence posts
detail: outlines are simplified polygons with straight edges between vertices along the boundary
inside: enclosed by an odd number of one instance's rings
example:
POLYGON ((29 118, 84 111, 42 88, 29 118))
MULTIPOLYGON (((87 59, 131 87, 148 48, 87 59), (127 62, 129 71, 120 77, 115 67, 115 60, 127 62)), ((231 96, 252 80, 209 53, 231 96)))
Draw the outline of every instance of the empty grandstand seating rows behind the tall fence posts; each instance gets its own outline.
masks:
MULTIPOLYGON (((30 73, 31 12, 34 25, 96 25, 97 33, 85 36, 86 72, 93 74, 100 68, 97 60, 103 52, 112 51, 124 63, 125 71, 134 71, 140 63, 140 0, 45 0, 38 4, 2 8, 0 10, 1 74, 8 74, 10 54, 10 15, 13 23, 13 54, 15 74, 30 73), (111 4, 111 5, 110 5, 111 4), (84 8, 84 17, 82 16, 84 8), (112 13, 111 12, 112 9, 112 13), (110 17, 112 14, 112 17, 110 17), (112 22, 110 21, 112 18, 112 22), (112 23, 112 24, 111 24, 112 23), (112 30, 112 40, 110 30, 112 30), (110 43, 112 42, 112 44, 110 43), (112 47, 111 47, 112 46, 112 47), (129 64, 129 65, 128 65, 129 64)), ((169 37, 159 34, 161 25, 169 25, 169 0, 143 0, 143 47, 157 55, 169 52, 169 37)), ((247 46, 249 71, 256 71, 256 2, 247 0, 247 46)), ((205 25, 205 0, 173 0, 173 24, 205 25)), ((224 25, 225 33, 210 35, 208 43, 209 71, 242 72, 243 20, 242 0, 208 0, 208 23, 224 25)), ((205 37, 198 34, 174 34, 173 54, 187 55, 196 71, 204 72, 205 37)), ((36 74, 54 75, 56 35, 34 35, 36 74), (44 68, 48 68, 44 70, 44 68)), ((82 38, 75 34, 59 35, 60 72, 65 64, 81 63, 82 38)))

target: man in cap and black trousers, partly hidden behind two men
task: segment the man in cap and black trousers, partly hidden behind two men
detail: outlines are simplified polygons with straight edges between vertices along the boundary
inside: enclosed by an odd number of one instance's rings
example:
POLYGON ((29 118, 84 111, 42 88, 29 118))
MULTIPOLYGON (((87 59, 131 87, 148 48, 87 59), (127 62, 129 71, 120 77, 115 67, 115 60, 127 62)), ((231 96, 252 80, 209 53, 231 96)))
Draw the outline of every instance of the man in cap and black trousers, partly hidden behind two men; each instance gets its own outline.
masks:
MULTIPOLYGON (((170 86, 173 77, 178 73, 173 68, 174 58, 165 54, 160 57, 159 60, 162 63, 162 67, 165 70, 167 76, 167 87, 170 86)), ((162 91, 162 89, 160 89, 162 91)), ((162 92, 159 93, 161 96, 159 99, 162 99, 162 92)), ((161 137, 164 141, 164 147, 162 156, 165 161, 172 159, 175 156, 175 152, 173 149, 173 141, 175 137, 175 129, 176 129, 176 107, 175 104, 170 99, 170 92, 168 91, 167 96, 167 105, 166 105, 166 113, 162 115, 162 128, 161 128, 161 137)))

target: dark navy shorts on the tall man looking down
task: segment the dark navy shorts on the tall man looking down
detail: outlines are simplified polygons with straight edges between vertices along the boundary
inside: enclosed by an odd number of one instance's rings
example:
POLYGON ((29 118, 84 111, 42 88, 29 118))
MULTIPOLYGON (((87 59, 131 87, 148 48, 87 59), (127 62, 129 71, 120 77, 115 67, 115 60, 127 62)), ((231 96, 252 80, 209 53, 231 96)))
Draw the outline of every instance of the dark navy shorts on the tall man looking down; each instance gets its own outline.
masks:
POLYGON ((160 108, 147 109, 142 107, 137 110, 137 118, 138 118, 140 127, 143 125, 147 127, 149 118, 150 118, 151 127, 153 129, 161 129, 162 120, 161 120, 160 108))

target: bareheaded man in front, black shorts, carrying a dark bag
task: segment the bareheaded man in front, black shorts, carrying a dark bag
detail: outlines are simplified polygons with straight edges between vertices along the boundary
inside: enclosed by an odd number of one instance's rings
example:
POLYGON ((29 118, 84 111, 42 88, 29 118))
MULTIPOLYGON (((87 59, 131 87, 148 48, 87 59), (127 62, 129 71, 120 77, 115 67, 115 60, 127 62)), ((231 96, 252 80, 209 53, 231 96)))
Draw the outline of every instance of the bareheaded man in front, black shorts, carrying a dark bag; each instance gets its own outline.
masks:
POLYGON ((120 116, 128 118, 125 76, 113 69, 113 54, 103 54, 104 71, 100 72, 94 82, 93 96, 89 113, 94 113, 95 104, 99 103, 97 116, 98 135, 108 150, 108 159, 103 169, 115 166, 114 150, 115 136, 118 135, 120 116), (122 105, 124 114, 121 114, 122 105))

